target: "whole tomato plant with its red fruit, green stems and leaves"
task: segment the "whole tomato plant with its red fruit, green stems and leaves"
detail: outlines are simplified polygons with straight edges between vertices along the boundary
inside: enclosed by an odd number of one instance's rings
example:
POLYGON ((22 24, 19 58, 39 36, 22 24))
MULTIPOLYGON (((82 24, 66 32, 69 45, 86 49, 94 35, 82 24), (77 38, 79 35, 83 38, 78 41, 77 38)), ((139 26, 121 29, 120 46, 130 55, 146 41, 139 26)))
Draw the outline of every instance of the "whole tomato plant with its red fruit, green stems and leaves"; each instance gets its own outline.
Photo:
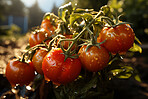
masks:
POLYGON ((142 52, 134 39, 140 41, 129 24, 114 17, 110 7, 105 5, 97 12, 68 3, 58 11, 58 16, 45 14, 41 29, 32 31, 30 48, 26 48, 22 60, 8 63, 6 77, 12 86, 28 85, 36 70, 35 83, 30 87, 39 89, 34 92, 42 92, 42 96, 47 94, 44 87, 48 85, 52 99, 95 99, 107 93, 113 96, 107 86, 114 77, 128 79, 134 75, 140 79, 118 54, 129 48, 142 52), (43 41, 45 44, 41 44, 43 41), (32 62, 24 62, 28 60, 32 62))

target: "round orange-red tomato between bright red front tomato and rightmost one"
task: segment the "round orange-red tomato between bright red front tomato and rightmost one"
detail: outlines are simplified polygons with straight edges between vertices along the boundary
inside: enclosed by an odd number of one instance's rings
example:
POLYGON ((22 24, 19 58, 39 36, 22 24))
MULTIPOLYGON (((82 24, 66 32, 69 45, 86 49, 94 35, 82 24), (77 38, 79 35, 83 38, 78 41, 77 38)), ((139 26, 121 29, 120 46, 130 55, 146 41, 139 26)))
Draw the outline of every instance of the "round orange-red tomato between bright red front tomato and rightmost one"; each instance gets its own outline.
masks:
POLYGON ((100 46, 92 46, 88 48, 84 45, 79 50, 79 58, 81 60, 82 66, 89 71, 97 72, 107 66, 109 61, 109 53, 108 51, 100 46))

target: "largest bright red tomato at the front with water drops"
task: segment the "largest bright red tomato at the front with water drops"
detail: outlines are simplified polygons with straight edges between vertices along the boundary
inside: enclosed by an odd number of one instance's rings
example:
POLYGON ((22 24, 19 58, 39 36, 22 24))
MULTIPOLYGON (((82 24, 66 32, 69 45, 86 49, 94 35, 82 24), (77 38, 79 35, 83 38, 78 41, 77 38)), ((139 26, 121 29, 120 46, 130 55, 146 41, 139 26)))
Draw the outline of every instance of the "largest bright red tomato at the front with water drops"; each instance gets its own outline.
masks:
POLYGON ((79 58, 67 58, 61 48, 52 49, 45 57, 42 63, 42 69, 45 77, 58 84, 67 84, 74 81, 80 71, 81 62, 79 58))

